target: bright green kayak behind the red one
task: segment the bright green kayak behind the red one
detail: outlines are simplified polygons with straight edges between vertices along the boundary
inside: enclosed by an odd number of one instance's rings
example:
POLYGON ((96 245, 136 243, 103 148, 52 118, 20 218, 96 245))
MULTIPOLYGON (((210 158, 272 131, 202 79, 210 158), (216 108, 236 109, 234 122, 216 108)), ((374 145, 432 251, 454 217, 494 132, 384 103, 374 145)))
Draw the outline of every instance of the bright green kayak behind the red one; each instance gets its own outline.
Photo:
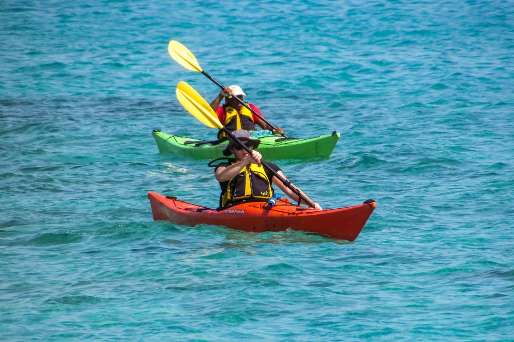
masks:
MULTIPOLYGON (((153 136, 160 153, 173 153, 195 159, 214 159, 223 157, 222 151, 227 141, 213 145, 203 140, 162 133, 154 130, 153 136)), ((253 136, 252 136, 253 137, 253 136)), ((280 135, 256 136, 261 140, 257 151, 265 160, 287 158, 328 158, 336 146, 339 133, 321 135, 310 139, 284 138, 280 135)))

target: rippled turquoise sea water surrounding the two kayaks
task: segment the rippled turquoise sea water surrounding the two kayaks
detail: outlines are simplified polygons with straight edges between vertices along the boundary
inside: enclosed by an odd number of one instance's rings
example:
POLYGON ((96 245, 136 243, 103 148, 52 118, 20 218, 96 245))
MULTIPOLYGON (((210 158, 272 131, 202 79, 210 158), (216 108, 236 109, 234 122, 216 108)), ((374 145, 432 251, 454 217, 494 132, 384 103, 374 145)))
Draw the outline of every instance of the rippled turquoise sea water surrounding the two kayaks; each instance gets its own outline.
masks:
POLYGON ((0 2, 2 340, 513 340, 510 1, 0 2), (218 88, 170 39, 330 159, 278 162, 354 243, 154 222, 216 206, 213 138, 175 98, 218 88))

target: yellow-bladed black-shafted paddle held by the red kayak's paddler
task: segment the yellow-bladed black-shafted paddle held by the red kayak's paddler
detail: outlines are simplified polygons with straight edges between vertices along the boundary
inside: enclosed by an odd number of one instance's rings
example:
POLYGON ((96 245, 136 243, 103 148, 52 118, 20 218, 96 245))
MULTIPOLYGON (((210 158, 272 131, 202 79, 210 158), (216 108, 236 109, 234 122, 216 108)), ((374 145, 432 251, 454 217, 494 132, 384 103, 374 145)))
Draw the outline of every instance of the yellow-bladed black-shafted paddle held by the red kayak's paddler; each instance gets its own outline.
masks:
MULTIPOLYGON (((207 103, 207 101, 201 97, 200 94, 196 90, 194 90, 193 87, 191 87, 186 82, 181 81, 177 85, 177 98, 178 102, 187 109, 188 112, 190 112, 194 117, 196 117, 201 123, 206 125, 207 127, 211 128, 218 128, 223 130, 225 133, 227 133, 228 136, 230 136, 237 144, 242 146, 246 152, 249 154, 252 154, 252 150, 250 150, 245 144, 241 143, 241 140, 237 139, 232 132, 230 132, 228 129, 226 129, 221 122, 219 122, 218 116, 214 111, 212 110, 211 106, 207 103)), ((261 164, 268 169, 277 179, 279 179, 286 187, 291 189, 292 192, 294 192, 299 200, 298 205, 300 205, 300 200, 303 199, 305 203, 308 204, 309 207, 314 208, 314 204, 310 202, 307 198, 305 198, 304 195, 298 191, 297 188, 293 187, 291 185, 291 182, 289 180, 284 179, 281 175, 277 173, 277 171, 271 169, 263 160, 261 160, 261 164)))

